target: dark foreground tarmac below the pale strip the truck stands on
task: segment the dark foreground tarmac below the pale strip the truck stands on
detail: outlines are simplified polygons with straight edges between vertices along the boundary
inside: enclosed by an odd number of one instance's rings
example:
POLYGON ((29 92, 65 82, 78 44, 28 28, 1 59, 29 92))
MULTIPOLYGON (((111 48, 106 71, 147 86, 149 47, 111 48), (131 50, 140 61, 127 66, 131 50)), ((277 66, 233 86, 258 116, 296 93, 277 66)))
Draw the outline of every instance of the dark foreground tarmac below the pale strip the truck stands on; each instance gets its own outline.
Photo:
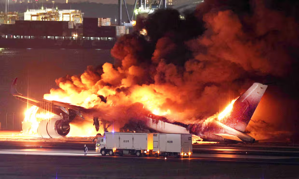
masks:
MULTIPOLYGON (((52 150, 52 149, 51 149, 52 150)), ((41 151, 41 150, 40 150, 41 151)), ((17 153, 16 151, 13 151, 17 153)), ((298 178, 298 163, 110 157, 80 151, 0 154, 0 178, 298 178), (54 155, 53 155, 54 154, 54 155)), ((3 151, 1 151, 3 153, 3 151)))

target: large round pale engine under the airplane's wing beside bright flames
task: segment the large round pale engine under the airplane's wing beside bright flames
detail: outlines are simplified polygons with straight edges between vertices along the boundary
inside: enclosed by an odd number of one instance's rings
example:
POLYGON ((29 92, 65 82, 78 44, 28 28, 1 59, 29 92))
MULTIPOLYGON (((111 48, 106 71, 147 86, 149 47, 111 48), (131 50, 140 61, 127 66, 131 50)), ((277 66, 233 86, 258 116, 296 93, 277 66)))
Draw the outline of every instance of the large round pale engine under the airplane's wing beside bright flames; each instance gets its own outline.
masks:
POLYGON ((58 138, 70 132, 70 125, 60 118, 42 120, 37 128, 37 134, 42 138, 58 138))

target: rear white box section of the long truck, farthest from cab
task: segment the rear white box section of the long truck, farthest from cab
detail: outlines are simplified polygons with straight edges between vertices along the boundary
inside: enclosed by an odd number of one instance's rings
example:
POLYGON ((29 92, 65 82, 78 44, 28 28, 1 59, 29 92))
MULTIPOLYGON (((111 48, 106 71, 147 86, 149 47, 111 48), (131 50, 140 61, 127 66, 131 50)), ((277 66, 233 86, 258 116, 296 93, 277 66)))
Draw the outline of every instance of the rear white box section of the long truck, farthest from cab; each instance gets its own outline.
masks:
POLYGON ((153 134, 155 157, 174 156, 176 158, 192 154, 192 134, 153 134))

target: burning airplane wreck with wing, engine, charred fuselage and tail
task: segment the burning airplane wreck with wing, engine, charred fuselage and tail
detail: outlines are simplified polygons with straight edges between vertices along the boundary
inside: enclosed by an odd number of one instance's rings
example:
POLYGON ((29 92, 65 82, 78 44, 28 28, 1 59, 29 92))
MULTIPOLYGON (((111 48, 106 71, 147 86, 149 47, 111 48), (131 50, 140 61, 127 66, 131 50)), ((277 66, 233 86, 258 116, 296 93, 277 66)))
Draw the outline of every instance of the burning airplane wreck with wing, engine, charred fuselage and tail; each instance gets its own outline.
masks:
MULTIPOLYGON (((100 128, 100 122, 103 125, 104 131, 114 122, 114 116, 107 113, 107 111, 87 109, 60 101, 28 98, 17 92, 16 83, 17 78, 15 78, 11 86, 11 93, 16 99, 28 102, 52 114, 48 114, 44 120, 35 124, 35 126, 37 126, 38 135, 43 138, 66 136, 70 132, 70 123, 72 123, 76 117, 79 117, 81 120, 89 119, 93 121, 96 131, 100 128)), ((163 133, 191 133, 207 141, 229 139, 234 141, 254 142, 255 139, 244 133, 244 131, 266 88, 267 85, 254 83, 239 98, 233 100, 219 115, 211 116, 206 120, 194 124, 171 122, 163 116, 155 115, 153 112, 144 109, 141 103, 135 103, 131 106, 134 107, 132 111, 135 113, 135 118, 143 121, 143 124, 153 131, 163 133)), ((102 98, 104 97, 102 96, 102 98)), ((101 101, 103 101, 102 98, 101 101)), ((107 98, 104 99, 105 102, 107 98)), ((32 110, 37 111, 36 108, 32 110)), ((131 109, 128 108, 127 110, 131 109)))

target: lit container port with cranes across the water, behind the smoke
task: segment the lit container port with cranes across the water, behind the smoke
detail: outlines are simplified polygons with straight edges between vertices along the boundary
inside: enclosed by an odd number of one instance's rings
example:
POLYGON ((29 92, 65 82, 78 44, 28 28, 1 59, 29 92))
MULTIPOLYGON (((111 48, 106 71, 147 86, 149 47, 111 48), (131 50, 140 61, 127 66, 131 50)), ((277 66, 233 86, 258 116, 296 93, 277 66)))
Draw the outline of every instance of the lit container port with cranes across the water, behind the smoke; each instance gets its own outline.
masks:
MULTIPOLYGON (((174 0, 173 0, 174 1, 174 0)), ((122 1, 118 0, 118 24, 111 18, 84 18, 80 10, 28 9, 24 21, 19 21, 17 12, 0 13, 0 42, 5 48, 96 48, 111 49, 119 36, 129 33, 138 17, 147 17, 158 8, 175 7, 171 0, 135 0, 133 12, 129 14, 123 0, 127 22, 122 21, 122 1), (86 22, 83 22, 86 21, 86 22)), ((6 0, 7 6, 8 0, 6 0)), ((54 2, 54 1, 52 1, 54 2)), ((192 1, 196 6, 201 1, 192 1)), ((190 6, 190 3, 188 4, 190 6)), ((183 8, 186 5, 183 5, 183 8)), ((9 10, 9 8, 8 8, 9 10)))

